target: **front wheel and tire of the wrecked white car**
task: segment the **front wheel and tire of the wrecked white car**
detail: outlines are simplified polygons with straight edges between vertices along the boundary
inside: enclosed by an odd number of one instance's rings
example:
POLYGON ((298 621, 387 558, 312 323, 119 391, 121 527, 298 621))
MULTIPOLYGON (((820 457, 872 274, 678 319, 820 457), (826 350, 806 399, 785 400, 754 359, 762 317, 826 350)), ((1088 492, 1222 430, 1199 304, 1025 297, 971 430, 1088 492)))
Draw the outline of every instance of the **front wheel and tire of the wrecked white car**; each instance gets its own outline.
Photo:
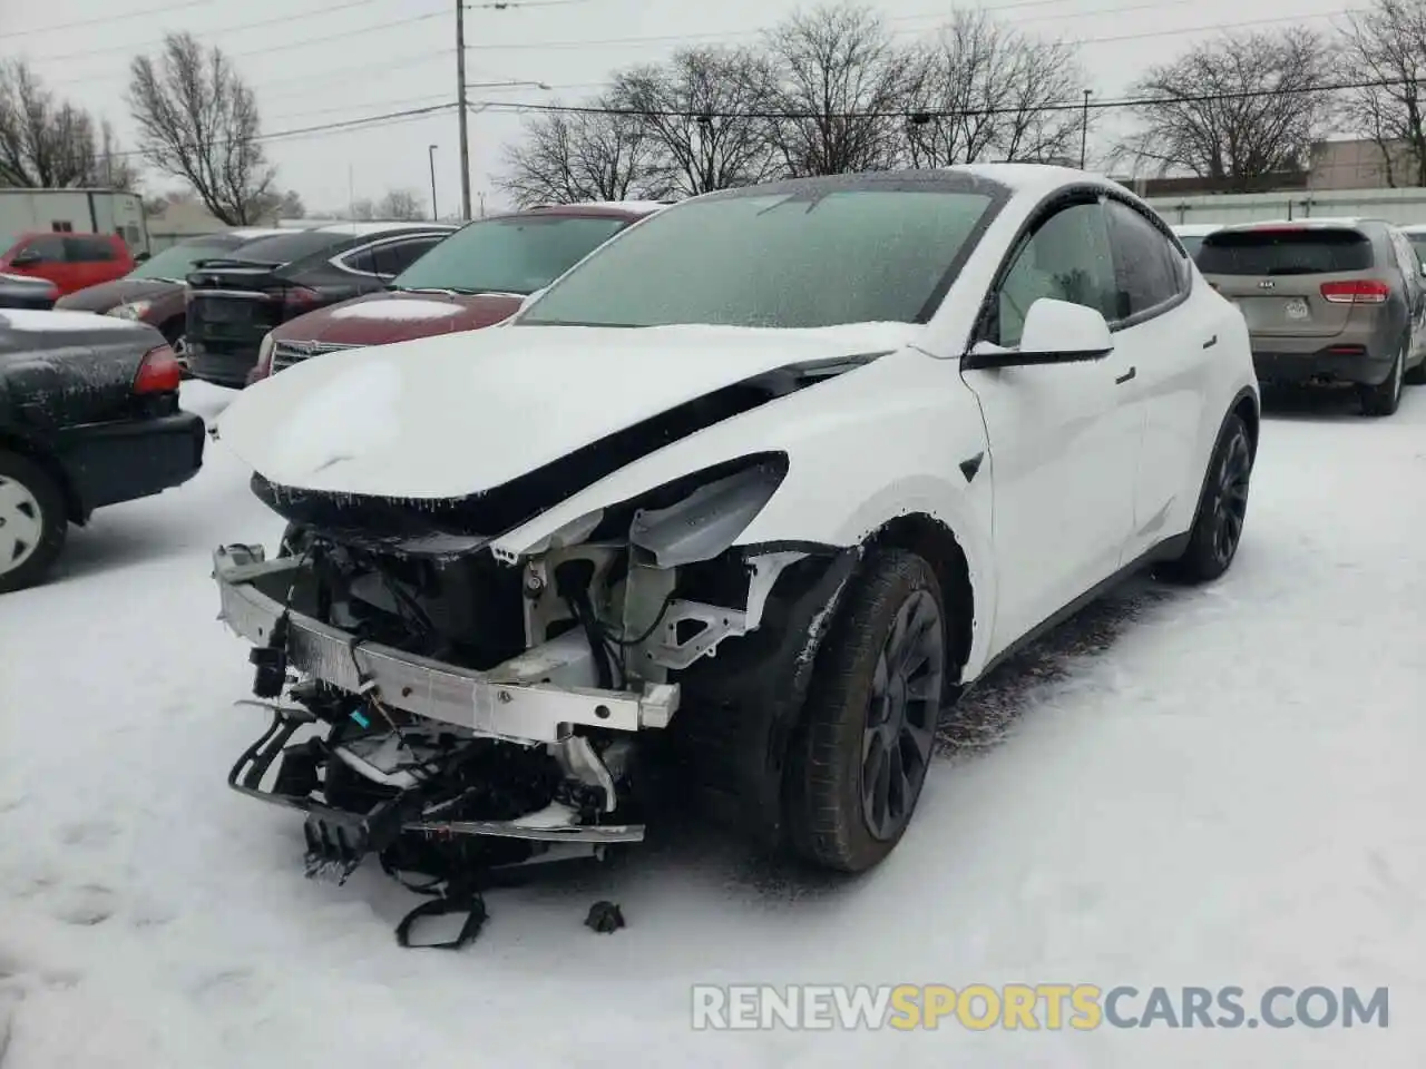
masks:
POLYGON ((930 564, 906 550, 870 559, 819 654, 790 747, 787 828, 803 859, 864 872, 900 842, 934 750, 950 633, 930 564))

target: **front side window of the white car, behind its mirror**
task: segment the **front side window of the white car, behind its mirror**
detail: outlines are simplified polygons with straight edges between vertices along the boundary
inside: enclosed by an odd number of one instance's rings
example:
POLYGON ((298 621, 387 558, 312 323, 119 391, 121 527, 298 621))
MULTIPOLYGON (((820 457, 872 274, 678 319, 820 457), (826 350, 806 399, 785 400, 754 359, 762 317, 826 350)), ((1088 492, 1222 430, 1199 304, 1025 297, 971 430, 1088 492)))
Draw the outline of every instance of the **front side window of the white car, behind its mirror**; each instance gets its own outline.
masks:
POLYGON ((1114 322, 1114 257, 1102 205, 1072 204, 1047 218, 1021 245, 997 294, 997 338, 1020 345, 1025 315, 1040 298, 1084 305, 1114 322))

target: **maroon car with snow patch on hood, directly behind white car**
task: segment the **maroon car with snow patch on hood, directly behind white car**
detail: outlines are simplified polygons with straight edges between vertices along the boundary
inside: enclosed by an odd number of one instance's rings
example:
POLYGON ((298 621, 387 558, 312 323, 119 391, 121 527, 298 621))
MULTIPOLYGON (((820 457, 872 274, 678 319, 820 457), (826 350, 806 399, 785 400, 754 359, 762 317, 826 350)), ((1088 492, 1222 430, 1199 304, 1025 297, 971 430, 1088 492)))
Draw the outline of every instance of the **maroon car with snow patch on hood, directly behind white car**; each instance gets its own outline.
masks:
POLYGON ((562 204, 471 222, 396 275, 385 292, 275 328, 262 341, 248 382, 324 352, 492 326, 508 319, 525 296, 660 207, 653 201, 562 204))

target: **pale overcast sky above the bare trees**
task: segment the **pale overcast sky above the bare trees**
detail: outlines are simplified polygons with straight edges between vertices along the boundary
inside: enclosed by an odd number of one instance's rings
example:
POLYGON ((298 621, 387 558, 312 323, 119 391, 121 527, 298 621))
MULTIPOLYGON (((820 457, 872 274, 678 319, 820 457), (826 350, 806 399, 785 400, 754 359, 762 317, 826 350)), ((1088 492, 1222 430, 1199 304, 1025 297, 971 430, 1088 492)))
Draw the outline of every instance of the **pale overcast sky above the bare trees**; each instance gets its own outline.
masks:
MULTIPOLYGON (((481 0, 466 0, 481 3, 481 0)), ((128 60, 165 31, 221 44, 254 87, 264 130, 278 133, 442 104, 455 97, 456 0, 0 0, 0 57, 23 56, 56 93, 110 118, 133 144, 123 103, 128 60), (101 21, 96 21, 101 20, 101 21), (74 26, 74 23, 88 23, 74 26)), ((560 0, 466 13, 468 80, 528 81, 550 88, 471 88, 472 101, 572 103, 609 71, 660 58, 680 43, 753 41, 797 10, 799 0, 560 0)), ((883 0, 901 40, 927 34, 953 4, 883 0)), ((1343 7, 1329 0, 985 0, 1027 33, 1081 41, 1087 88, 1122 95, 1147 66, 1172 58, 1219 27, 1269 29, 1288 21, 1329 29, 1343 7)), ((501 207, 493 177, 519 115, 471 117, 475 195, 501 207)), ((436 200, 459 208, 453 111, 375 128, 267 143, 278 181, 309 210, 394 187, 429 201, 428 145, 436 145, 436 200)), ((1091 150, 1092 153, 1092 150, 1091 150)), ((178 185, 153 175, 153 192, 178 185)), ((479 211, 479 200, 475 201, 479 211)))

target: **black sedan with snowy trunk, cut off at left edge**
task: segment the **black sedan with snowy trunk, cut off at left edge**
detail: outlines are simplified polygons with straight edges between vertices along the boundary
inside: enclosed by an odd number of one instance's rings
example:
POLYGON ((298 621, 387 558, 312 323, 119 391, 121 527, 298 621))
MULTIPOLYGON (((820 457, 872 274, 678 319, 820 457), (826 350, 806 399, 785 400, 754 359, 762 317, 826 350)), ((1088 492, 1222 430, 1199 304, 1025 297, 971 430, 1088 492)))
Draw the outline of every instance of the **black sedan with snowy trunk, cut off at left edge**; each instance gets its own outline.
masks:
POLYGON ((178 408, 180 372, 147 324, 0 311, 0 593, 44 579, 68 525, 198 472, 205 428, 178 408))

